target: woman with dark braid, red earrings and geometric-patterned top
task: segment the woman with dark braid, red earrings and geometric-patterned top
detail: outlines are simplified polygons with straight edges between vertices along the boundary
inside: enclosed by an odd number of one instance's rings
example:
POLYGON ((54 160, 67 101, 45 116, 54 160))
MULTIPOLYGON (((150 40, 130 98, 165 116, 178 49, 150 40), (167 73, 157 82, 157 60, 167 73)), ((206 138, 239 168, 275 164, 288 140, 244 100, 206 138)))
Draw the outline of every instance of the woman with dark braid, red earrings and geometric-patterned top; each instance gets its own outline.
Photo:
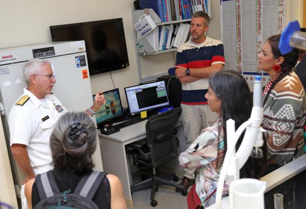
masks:
POLYGON ((298 49, 281 54, 279 38, 266 41, 260 51, 259 68, 271 76, 264 89, 264 118, 262 127, 267 148, 269 171, 285 165, 303 154, 303 126, 306 118, 306 100, 303 85, 292 69, 298 49))

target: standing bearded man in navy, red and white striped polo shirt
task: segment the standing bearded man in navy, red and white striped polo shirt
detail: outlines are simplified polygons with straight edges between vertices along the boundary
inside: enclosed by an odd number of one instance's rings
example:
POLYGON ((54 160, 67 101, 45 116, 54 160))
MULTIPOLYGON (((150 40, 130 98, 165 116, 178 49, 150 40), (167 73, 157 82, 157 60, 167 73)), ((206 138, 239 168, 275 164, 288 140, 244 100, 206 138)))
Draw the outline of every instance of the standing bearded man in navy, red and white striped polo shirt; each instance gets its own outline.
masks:
MULTIPOLYGON (((219 40, 206 36, 209 16, 204 11, 192 15, 191 39, 177 49, 175 75, 182 83, 182 121, 187 137, 186 148, 200 135, 201 123, 207 127, 208 77, 223 69, 224 48, 219 40)), ((185 169, 181 185, 194 184, 194 169, 185 169)), ((180 190, 176 189, 177 192, 180 190)))

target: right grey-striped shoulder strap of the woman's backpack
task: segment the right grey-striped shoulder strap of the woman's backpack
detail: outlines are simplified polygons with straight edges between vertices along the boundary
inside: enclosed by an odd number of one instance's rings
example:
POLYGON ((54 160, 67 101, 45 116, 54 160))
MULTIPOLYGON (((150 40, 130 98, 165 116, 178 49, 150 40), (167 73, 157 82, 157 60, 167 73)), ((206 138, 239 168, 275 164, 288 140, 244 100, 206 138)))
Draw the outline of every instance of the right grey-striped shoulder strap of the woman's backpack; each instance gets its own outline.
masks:
POLYGON ((90 174, 84 175, 73 194, 92 199, 106 175, 107 173, 99 171, 92 171, 90 174))

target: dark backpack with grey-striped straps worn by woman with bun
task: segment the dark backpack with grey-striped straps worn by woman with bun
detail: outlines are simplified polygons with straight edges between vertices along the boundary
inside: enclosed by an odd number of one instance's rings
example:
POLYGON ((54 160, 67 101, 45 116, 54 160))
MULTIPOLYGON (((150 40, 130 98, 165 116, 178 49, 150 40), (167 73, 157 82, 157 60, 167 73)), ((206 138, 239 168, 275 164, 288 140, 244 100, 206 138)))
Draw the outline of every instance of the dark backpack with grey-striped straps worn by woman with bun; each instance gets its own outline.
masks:
POLYGON ((40 202, 33 209, 98 209, 98 206, 92 201, 92 198, 106 176, 106 173, 92 171, 84 175, 77 188, 70 194, 70 189, 62 193, 59 191, 52 172, 50 170, 36 176, 35 182, 40 202))

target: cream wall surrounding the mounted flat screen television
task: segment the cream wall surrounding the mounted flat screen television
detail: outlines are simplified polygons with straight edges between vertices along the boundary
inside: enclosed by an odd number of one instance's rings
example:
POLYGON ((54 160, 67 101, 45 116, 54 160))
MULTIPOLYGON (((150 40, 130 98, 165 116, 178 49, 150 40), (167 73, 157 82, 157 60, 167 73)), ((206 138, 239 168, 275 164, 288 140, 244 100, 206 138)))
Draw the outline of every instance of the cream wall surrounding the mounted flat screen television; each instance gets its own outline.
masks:
MULTIPOLYGON (((0 48, 50 42, 50 25, 122 17, 131 67, 113 71, 112 76, 125 106, 123 87, 138 84, 132 4, 133 0, 1 1, 0 48)), ((110 73, 94 75, 90 79, 93 93, 113 88, 110 73)))

